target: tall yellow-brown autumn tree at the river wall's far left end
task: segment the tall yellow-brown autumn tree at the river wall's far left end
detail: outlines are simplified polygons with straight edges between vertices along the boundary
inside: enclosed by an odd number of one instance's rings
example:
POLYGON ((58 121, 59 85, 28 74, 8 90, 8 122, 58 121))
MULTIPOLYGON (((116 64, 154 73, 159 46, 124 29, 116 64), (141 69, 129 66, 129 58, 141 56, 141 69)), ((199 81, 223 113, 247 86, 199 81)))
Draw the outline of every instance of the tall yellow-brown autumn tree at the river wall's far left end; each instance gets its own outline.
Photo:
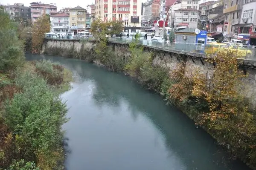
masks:
POLYGON ((50 31, 49 16, 43 15, 32 26, 32 52, 39 53, 41 51, 45 33, 50 31))

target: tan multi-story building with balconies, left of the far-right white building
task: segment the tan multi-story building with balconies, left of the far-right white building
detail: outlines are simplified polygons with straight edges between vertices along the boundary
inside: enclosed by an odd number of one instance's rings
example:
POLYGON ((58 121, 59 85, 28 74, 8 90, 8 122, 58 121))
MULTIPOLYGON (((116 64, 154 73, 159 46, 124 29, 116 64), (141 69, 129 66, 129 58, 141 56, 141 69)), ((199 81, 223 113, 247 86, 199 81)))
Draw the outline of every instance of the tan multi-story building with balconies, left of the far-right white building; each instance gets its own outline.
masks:
POLYGON ((225 14, 225 21, 223 37, 227 40, 237 38, 237 24, 240 24, 241 21, 240 17, 243 3, 244 2, 241 0, 224 0, 223 13, 225 14))

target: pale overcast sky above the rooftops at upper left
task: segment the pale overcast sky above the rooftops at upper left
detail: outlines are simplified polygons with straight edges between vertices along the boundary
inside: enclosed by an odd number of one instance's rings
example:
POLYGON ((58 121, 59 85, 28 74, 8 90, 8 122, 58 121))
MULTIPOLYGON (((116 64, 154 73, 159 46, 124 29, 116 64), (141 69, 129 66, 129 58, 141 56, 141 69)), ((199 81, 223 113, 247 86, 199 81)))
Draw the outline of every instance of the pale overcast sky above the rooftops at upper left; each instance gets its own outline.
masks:
MULTIPOLYGON (((56 3, 56 6, 58 7, 57 10, 62 9, 62 7, 76 7, 81 6, 83 8, 86 8, 87 5, 92 4, 95 2, 95 0, 78 0, 72 1, 72 0, 35 0, 35 2, 42 2, 42 3, 56 3)), ((142 0, 142 2, 145 2, 147 0, 142 0)), ((14 3, 24 3, 24 6, 30 6, 30 3, 34 2, 33 0, 0 0, 0 4, 7 5, 8 3, 13 5, 14 3)))

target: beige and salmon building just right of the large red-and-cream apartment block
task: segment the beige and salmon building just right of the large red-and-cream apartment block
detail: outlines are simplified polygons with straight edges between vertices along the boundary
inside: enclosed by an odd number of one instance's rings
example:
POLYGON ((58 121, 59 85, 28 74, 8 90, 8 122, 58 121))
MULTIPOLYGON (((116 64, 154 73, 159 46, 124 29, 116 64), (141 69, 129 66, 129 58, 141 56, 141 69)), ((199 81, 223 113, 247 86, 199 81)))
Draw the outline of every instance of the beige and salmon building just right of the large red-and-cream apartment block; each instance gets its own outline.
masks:
POLYGON ((145 21, 154 21, 157 17, 160 17, 160 0, 148 0, 146 3, 143 3, 144 20, 145 21))

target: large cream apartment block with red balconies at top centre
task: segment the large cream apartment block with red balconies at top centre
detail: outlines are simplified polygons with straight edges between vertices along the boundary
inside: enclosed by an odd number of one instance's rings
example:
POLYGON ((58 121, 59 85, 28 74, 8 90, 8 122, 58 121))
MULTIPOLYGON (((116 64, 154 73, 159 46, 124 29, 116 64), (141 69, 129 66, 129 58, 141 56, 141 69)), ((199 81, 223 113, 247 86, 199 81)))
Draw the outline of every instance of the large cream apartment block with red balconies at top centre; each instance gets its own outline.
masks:
POLYGON ((141 26, 141 5, 141 0, 95 0, 95 14, 104 21, 120 20, 134 32, 141 26))

